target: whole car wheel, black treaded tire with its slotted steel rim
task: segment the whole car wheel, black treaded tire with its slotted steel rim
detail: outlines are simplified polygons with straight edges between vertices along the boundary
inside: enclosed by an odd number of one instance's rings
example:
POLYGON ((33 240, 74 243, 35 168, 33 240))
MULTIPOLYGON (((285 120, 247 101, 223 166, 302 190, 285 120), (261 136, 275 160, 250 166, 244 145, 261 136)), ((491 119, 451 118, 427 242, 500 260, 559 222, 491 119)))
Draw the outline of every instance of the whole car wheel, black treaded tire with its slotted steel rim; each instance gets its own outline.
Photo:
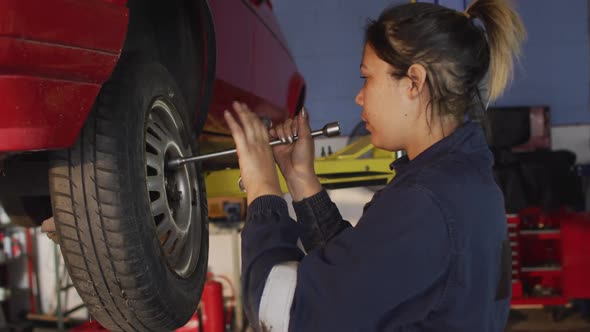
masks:
POLYGON ((195 150, 187 115, 163 66, 123 62, 76 144, 52 155, 61 251, 91 315, 110 331, 173 330, 199 303, 208 257, 204 181, 195 164, 170 171, 159 162, 195 150))

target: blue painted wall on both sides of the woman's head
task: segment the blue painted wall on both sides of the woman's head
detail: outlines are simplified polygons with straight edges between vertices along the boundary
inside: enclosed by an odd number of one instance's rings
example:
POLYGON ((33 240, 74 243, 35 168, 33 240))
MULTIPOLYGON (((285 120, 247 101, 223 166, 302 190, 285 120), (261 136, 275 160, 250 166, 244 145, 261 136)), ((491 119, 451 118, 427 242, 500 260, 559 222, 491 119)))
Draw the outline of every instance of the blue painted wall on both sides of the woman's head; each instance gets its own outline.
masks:
MULTIPOLYGON (((431 1, 455 9, 463 9, 465 3, 431 1)), ((362 83, 363 27, 387 5, 402 2, 407 1, 273 2, 307 81, 306 105, 313 128, 339 120, 348 134, 360 121, 354 96, 362 83)), ((546 104, 554 124, 590 123, 588 0, 521 0, 517 5, 529 39, 516 79, 497 105, 546 104)))

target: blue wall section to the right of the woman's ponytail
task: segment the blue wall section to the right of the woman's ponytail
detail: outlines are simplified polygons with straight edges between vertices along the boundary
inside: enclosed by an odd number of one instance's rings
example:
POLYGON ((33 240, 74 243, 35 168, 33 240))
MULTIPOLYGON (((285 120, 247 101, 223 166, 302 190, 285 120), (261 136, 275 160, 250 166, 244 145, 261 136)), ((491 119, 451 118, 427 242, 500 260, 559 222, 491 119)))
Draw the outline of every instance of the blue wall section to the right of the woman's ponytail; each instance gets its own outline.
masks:
POLYGON ((497 105, 545 104, 554 125, 590 123, 588 2, 517 2, 528 40, 514 82, 497 105))

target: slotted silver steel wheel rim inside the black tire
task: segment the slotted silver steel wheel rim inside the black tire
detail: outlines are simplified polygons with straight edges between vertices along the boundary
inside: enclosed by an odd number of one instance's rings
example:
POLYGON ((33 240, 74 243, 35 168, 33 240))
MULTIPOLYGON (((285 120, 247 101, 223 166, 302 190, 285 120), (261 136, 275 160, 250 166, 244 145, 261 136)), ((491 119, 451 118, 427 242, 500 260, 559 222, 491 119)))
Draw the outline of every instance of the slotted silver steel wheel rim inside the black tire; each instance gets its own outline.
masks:
POLYGON ((145 130, 146 184, 160 247, 168 266, 181 277, 191 275, 199 260, 200 183, 194 165, 165 165, 192 154, 186 137, 178 111, 166 99, 156 99, 145 130))

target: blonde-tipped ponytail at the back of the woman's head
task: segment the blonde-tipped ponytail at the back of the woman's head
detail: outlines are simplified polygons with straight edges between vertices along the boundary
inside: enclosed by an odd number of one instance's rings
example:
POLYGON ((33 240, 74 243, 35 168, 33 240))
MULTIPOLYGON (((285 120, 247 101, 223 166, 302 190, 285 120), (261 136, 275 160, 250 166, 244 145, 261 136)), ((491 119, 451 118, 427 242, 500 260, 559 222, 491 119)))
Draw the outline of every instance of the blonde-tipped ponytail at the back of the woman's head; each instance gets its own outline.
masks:
POLYGON ((479 19, 490 50, 488 98, 497 99, 514 75, 514 59, 520 60, 524 25, 507 0, 475 0, 465 10, 470 19, 479 19))

